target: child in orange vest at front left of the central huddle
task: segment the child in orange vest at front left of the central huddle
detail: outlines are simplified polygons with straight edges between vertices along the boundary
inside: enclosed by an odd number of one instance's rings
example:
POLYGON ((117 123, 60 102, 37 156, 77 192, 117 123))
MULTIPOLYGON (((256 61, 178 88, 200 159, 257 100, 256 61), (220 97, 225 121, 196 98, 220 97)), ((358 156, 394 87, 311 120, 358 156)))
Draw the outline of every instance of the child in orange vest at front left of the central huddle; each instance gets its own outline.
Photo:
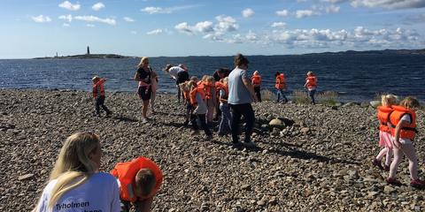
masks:
MULTIPOLYGON (((206 103, 205 103, 205 87, 204 84, 199 84, 197 87, 193 87, 190 91, 190 103, 195 108, 193 110, 193 114, 197 116, 199 122, 201 123, 202 128, 205 131, 205 139, 209 139, 213 136, 210 129, 208 129, 208 125, 206 125, 206 103)), ((192 134, 197 134, 197 122, 196 119, 192 121, 192 126, 194 132, 192 134)))

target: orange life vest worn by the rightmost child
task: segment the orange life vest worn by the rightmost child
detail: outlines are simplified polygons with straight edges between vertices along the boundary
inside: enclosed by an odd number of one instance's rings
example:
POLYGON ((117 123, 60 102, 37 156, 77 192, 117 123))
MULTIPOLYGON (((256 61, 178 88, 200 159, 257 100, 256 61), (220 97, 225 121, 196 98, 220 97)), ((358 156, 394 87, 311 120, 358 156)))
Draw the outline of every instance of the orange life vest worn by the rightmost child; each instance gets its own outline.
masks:
POLYGON ((400 121, 401 117, 408 114, 411 118, 411 123, 405 127, 402 127, 400 130, 400 138, 413 140, 416 135, 416 113, 413 110, 406 109, 401 106, 392 106, 392 113, 390 114, 390 123, 391 123, 391 134, 395 136, 396 134, 396 126, 400 121))

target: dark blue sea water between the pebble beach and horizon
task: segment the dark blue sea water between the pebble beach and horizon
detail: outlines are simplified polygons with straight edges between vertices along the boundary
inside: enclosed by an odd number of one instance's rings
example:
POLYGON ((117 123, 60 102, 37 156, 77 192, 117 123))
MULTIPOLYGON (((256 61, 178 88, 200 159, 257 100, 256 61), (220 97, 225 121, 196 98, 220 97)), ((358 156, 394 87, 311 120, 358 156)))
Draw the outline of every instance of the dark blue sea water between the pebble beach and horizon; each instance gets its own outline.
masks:
MULTIPOLYGON (((289 93, 303 89, 305 73, 313 71, 319 91, 336 91, 342 101, 367 101, 378 93, 413 95, 425 100, 425 56, 251 56, 249 72, 259 70, 263 88, 273 89, 274 73, 284 72, 289 93)), ((0 88, 45 88, 90 90, 91 78, 107 79, 107 91, 135 91, 133 80, 139 59, 17 59, 0 60, 0 88)), ((233 68, 233 57, 151 57, 159 74, 159 92, 173 93, 174 81, 162 68, 187 64, 189 73, 213 75, 219 67, 233 68)))

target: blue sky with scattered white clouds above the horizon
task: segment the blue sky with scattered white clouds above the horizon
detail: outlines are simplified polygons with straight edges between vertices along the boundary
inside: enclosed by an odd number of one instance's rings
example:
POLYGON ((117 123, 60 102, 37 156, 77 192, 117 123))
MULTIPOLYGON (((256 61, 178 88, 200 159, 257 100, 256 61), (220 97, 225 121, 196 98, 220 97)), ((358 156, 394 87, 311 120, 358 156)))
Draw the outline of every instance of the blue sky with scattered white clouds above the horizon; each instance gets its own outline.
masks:
POLYGON ((0 58, 424 49, 425 0, 1 0, 0 58))

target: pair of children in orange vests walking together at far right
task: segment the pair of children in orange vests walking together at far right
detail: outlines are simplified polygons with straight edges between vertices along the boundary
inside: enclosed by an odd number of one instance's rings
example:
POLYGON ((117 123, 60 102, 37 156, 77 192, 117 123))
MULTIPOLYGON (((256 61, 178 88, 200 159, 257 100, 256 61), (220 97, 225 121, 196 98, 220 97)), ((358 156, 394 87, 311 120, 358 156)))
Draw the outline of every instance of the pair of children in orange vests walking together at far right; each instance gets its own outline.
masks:
POLYGON ((380 123, 379 146, 383 149, 372 161, 372 164, 380 170, 389 171, 387 182, 399 186, 401 183, 396 178, 398 164, 403 155, 406 155, 409 160, 410 185, 425 187, 425 181, 418 178, 418 158, 413 147, 413 139, 417 133, 415 110, 420 107, 420 103, 408 96, 397 105, 395 95, 382 95, 381 102, 382 106, 377 108, 377 117, 380 123), (383 166, 381 160, 384 155, 385 163, 383 166))

